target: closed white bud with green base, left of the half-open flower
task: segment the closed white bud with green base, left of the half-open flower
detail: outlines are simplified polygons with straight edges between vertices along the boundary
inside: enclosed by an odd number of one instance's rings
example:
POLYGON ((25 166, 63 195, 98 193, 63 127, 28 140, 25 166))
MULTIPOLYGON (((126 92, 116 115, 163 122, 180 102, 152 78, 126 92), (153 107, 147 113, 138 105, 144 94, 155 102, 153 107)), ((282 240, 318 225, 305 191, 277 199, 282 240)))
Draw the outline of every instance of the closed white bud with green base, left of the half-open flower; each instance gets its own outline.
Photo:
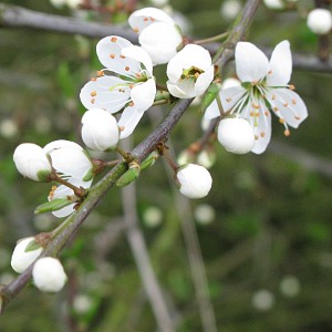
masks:
POLYGON ((35 181, 44 181, 52 173, 52 166, 44 151, 33 143, 20 144, 13 154, 18 170, 35 181))

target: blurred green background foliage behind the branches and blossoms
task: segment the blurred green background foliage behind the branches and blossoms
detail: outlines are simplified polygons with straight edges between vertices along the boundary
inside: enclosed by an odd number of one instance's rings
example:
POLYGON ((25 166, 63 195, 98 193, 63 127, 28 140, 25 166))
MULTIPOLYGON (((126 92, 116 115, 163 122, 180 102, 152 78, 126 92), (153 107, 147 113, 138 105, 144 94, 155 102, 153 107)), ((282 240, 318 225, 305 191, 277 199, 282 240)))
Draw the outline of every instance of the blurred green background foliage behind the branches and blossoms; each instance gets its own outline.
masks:
MULTIPOLYGON (((2 2, 111 21, 48 1, 2 2)), ((232 20, 220 10, 225 2, 170 4, 188 20, 188 33, 201 39, 229 28, 232 20)), ((276 12, 261 4, 247 40, 273 48, 288 39, 293 52, 315 53, 318 39, 305 25, 313 1, 299 2, 300 11, 276 12)), ((138 7, 148 4, 138 1, 138 7)), ((125 22, 126 15, 112 20, 125 22)), ((81 143, 79 92, 101 69, 96 42, 28 28, 0 30, 0 283, 15 277, 10 267, 15 241, 60 222, 33 215, 50 185, 23 179, 13 151, 23 142, 81 143)), ((260 156, 232 155, 216 144, 212 189, 189 203, 220 331, 332 330, 332 80, 331 74, 294 71, 292 83, 308 106, 308 120, 284 137, 274 117, 272 143, 260 156)), ((164 115, 168 110, 162 108, 164 115)), ((170 137, 176 154, 201 135, 200 121, 198 107, 190 106, 170 137)), ((145 116, 134 144, 152 128, 145 116)), ((177 331, 203 331, 180 211, 163 163, 136 184, 141 228, 177 331)), ((114 188, 61 255, 70 277, 66 288, 45 294, 28 286, 1 315, 0 331, 156 331, 121 218, 121 195, 114 188)))

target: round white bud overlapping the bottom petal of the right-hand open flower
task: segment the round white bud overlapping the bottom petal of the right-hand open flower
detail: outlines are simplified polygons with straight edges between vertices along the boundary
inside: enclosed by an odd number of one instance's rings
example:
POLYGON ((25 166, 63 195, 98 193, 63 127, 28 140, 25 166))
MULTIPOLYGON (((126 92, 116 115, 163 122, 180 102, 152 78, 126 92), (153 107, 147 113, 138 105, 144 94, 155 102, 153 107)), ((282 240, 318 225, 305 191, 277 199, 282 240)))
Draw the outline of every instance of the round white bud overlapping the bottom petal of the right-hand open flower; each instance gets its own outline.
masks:
POLYGON ((229 117, 218 125, 218 141, 228 152, 247 154, 255 145, 255 135, 247 120, 229 117))

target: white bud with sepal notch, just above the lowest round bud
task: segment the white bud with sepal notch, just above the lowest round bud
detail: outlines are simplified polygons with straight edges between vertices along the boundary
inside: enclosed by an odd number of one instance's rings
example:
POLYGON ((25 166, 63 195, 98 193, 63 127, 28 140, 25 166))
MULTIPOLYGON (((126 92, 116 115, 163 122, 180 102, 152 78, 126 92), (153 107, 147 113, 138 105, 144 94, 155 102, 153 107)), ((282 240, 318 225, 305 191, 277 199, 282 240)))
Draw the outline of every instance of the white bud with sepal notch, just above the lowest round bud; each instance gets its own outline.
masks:
POLYGON ((18 272, 22 273, 27 268, 34 262, 34 260, 40 256, 43 248, 38 248, 32 251, 25 251, 27 247, 34 241, 33 237, 25 238, 17 243, 17 247, 11 257, 11 267, 18 272))

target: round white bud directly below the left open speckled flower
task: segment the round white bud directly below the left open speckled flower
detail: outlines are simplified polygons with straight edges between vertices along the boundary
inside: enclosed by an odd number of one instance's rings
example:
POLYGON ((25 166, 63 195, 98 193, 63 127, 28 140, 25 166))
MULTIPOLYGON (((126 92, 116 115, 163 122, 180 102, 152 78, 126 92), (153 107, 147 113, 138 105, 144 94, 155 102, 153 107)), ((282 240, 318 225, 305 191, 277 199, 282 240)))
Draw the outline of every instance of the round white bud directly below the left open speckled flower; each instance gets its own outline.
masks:
POLYGON ((82 139, 93 151, 107 151, 116 146, 120 131, 116 120, 104 110, 85 112, 82 117, 82 139))

